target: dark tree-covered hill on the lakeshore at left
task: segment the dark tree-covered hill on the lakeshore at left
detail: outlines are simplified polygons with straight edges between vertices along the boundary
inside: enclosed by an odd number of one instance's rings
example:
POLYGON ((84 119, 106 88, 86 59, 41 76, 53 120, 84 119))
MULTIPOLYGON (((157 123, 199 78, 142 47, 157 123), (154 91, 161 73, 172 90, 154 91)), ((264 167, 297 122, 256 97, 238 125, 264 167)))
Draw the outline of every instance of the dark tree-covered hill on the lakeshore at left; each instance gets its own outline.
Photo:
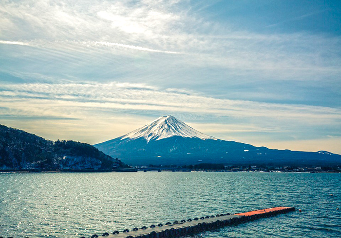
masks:
POLYGON ((0 125, 0 170, 84 170, 124 168, 119 159, 92 145, 46 140, 0 125))

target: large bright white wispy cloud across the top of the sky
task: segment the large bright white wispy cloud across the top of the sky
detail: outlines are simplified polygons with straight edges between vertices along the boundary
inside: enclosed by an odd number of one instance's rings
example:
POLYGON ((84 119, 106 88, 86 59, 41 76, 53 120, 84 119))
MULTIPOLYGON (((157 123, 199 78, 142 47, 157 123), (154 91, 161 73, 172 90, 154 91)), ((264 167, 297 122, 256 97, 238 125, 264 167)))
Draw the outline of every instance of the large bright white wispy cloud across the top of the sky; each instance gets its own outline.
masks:
POLYGON ((341 73, 340 37, 235 30, 228 22, 192 14, 187 2, 182 8, 177 1, 29 2, 3 4, 0 18, 13 27, 5 24, 0 31, 6 38, 43 48, 42 58, 57 54, 66 63, 84 59, 84 54, 95 59, 106 54, 108 61, 113 56, 134 58, 123 51, 130 49, 179 54, 173 62, 154 56, 156 65, 170 64, 170 72, 180 65, 182 70, 218 68, 233 76, 272 80, 317 80, 341 73))

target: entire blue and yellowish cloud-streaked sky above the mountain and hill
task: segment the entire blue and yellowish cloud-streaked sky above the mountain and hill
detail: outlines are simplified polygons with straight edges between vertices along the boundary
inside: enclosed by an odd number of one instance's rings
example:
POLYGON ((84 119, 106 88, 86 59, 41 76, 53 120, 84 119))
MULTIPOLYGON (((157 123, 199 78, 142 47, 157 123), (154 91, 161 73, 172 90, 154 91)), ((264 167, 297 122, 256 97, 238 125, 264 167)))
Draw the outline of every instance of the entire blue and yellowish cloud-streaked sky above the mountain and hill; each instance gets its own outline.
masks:
POLYGON ((341 1, 0 0, 0 124, 95 144, 164 115, 341 154, 341 1))

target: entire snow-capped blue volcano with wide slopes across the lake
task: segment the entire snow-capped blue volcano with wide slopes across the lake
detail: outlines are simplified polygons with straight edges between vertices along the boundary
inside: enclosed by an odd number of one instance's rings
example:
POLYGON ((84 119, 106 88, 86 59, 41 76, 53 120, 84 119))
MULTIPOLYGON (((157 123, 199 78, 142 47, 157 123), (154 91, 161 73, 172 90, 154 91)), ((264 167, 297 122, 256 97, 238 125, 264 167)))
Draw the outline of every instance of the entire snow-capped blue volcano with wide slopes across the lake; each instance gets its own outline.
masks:
POLYGON ((276 166, 341 164, 341 155, 325 151, 272 150, 217 139, 196 131, 172 116, 160 117, 131 133, 94 146, 130 165, 189 165, 201 162, 276 166))

